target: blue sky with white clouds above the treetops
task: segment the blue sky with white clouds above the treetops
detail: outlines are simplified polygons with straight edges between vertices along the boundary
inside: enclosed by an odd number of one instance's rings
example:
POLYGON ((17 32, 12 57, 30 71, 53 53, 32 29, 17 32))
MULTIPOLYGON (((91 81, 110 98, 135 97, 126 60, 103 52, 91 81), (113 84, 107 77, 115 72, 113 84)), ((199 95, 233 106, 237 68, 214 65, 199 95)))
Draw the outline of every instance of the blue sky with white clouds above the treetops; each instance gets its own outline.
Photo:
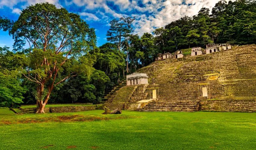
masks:
MULTIPOLYGON (((79 14, 95 28, 97 46, 100 46, 107 42, 106 32, 114 18, 136 16, 135 34, 142 35, 182 16, 193 16, 202 7, 211 9, 219 0, 0 0, 0 15, 17 20, 28 5, 46 1, 79 14)), ((12 44, 8 33, 0 31, 0 46, 12 47, 12 44)))

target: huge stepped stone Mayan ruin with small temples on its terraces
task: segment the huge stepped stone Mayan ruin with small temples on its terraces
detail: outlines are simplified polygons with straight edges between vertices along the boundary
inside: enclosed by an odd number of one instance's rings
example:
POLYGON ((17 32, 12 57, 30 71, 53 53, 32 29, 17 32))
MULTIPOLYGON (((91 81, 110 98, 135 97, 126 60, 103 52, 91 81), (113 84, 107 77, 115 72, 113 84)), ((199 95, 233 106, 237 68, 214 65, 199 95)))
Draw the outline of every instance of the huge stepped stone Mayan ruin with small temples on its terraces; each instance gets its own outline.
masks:
POLYGON ((158 55, 106 96, 111 110, 256 112, 256 45, 158 55), (158 59, 159 58, 159 59, 158 59), (143 79, 144 82, 140 82, 143 79))

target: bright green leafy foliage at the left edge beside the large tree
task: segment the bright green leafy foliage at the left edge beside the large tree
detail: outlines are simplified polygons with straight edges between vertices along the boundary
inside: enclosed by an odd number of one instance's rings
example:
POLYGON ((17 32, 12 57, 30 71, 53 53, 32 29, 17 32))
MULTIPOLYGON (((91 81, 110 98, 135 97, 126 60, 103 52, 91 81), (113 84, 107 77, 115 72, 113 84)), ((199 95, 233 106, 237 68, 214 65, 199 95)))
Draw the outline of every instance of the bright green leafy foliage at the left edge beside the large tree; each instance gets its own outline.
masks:
POLYGON ((11 107, 22 103, 26 88, 21 86, 18 66, 24 55, 14 54, 8 47, 0 47, 0 107, 11 107))

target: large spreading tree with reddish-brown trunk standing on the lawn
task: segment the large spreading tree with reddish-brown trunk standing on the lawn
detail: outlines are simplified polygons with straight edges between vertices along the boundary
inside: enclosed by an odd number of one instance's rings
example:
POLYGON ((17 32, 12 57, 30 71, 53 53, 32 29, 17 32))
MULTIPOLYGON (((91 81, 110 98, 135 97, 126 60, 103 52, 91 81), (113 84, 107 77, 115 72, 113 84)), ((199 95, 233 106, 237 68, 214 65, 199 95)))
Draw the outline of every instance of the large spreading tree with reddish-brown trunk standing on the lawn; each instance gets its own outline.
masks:
POLYGON ((64 8, 49 3, 28 6, 13 23, 10 34, 14 49, 27 53, 29 66, 23 68, 23 75, 37 83, 36 113, 44 113, 56 85, 80 71, 92 71, 94 60, 88 51, 95 47, 94 29, 64 8))

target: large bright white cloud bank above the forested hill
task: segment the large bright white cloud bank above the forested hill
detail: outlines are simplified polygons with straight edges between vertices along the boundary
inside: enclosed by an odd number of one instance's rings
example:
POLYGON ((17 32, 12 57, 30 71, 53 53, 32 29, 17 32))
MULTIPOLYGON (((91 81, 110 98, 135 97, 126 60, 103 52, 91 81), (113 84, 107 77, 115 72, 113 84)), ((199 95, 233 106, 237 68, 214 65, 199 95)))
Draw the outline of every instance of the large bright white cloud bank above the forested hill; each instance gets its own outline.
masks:
MULTIPOLYGON (((110 19, 113 17, 136 16, 136 20, 133 22, 135 33, 142 35, 144 32, 151 33, 154 29, 165 26, 172 21, 180 19, 182 16, 193 16, 202 7, 211 9, 219 0, 166 0, 164 2, 161 0, 143 0, 144 7, 140 7, 136 0, 108 1, 118 6, 120 11, 117 12, 111 9, 107 5, 107 0, 73 0, 72 2, 77 6, 84 6, 88 10, 103 9, 103 12, 98 10, 96 13, 105 22, 111 21, 110 19), (135 11, 138 13, 131 14, 135 11)), ((109 26, 109 24, 106 25, 109 26)))

